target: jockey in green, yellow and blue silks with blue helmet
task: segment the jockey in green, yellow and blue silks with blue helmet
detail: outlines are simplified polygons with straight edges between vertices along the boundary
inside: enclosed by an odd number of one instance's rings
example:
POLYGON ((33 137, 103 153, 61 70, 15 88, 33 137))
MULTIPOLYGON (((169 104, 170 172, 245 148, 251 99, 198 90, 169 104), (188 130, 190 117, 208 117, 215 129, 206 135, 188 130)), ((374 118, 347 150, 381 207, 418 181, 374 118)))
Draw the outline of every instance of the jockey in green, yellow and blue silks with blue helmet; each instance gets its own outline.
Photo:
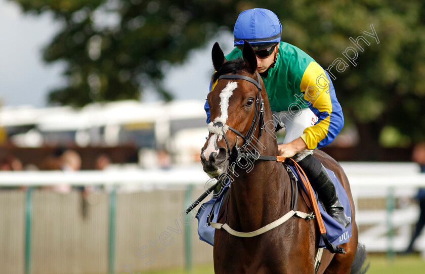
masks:
MULTIPOLYGON (((292 157, 304 169, 326 211, 347 227, 350 219, 344 213, 335 187, 324 166, 313 157, 313 150, 333 141, 344 126, 344 115, 328 73, 308 54, 280 41, 282 25, 266 9, 250 9, 239 14, 233 30, 235 49, 227 60, 242 57, 244 40, 257 56, 257 70, 273 112, 276 130, 284 127, 280 156, 292 157)), ((216 83, 211 83, 210 90, 216 83)), ((210 122, 208 102, 205 103, 210 122)))

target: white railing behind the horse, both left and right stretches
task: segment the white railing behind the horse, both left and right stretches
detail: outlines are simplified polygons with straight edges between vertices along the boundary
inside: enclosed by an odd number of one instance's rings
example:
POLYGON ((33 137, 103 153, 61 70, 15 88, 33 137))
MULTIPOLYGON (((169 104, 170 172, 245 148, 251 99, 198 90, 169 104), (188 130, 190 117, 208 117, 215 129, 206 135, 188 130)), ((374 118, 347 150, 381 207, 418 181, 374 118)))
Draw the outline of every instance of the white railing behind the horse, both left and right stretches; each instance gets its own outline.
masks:
MULTIPOLYGON (((359 241, 368 251, 394 252, 404 250, 410 240, 418 207, 411 198, 419 187, 425 187, 425 174, 414 163, 341 163, 350 180, 361 227, 359 241), (379 199, 386 208, 367 208, 362 201, 379 199), (395 202, 397 201, 397 205, 395 202)), ((199 165, 174 167, 169 170, 106 170, 106 171, 22 171, 0 172, 0 186, 114 185, 120 189, 203 185, 209 177, 199 165)), ((382 203, 381 203, 382 204, 382 203)), ((417 240, 417 250, 425 256, 425 233, 417 240)))

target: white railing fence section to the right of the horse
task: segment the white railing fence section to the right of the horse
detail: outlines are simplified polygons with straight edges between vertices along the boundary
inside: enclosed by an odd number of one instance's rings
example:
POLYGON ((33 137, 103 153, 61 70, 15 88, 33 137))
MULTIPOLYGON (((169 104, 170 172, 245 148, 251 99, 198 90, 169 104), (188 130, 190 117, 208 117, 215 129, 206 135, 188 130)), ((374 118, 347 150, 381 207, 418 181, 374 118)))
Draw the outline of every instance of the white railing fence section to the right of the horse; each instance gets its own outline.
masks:
MULTIPOLYGON (((356 204, 359 241, 369 252, 404 251, 419 216, 412 201, 418 188, 425 187, 425 174, 414 163, 343 163, 356 204), (385 209, 367 208, 362 200, 380 199, 385 209), (366 228, 365 228, 366 227, 366 228)), ((414 247, 425 258, 425 230, 414 247)))

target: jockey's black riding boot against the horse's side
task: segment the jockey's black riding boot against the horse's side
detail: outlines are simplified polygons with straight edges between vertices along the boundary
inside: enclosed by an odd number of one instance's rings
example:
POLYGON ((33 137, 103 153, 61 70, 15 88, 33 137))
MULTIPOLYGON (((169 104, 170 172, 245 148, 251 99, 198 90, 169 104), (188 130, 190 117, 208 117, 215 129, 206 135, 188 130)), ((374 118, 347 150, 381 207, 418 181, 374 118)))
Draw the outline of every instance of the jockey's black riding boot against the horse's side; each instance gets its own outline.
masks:
POLYGON ((322 163, 313 155, 305 157, 298 163, 310 178, 310 184, 319 195, 327 213, 344 227, 347 227, 351 221, 344 213, 344 207, 339 202, 335 186, 322 163))

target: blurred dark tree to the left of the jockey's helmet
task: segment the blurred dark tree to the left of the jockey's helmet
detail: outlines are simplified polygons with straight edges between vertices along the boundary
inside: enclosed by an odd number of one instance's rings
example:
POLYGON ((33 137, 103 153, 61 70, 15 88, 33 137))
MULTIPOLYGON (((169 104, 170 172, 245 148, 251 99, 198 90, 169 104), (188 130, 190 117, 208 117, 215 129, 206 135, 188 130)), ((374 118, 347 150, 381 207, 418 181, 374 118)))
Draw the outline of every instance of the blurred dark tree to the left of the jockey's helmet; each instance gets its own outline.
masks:
POLYGON ((232 26, 237 1, 14 0, 27 13, 53 13, 58 34, 44 60, 65 62, 67 85, 49 102, 84 106, 140 99, 147 87, 164 100, 164 67, 183 62, 221 27, 232 26))

